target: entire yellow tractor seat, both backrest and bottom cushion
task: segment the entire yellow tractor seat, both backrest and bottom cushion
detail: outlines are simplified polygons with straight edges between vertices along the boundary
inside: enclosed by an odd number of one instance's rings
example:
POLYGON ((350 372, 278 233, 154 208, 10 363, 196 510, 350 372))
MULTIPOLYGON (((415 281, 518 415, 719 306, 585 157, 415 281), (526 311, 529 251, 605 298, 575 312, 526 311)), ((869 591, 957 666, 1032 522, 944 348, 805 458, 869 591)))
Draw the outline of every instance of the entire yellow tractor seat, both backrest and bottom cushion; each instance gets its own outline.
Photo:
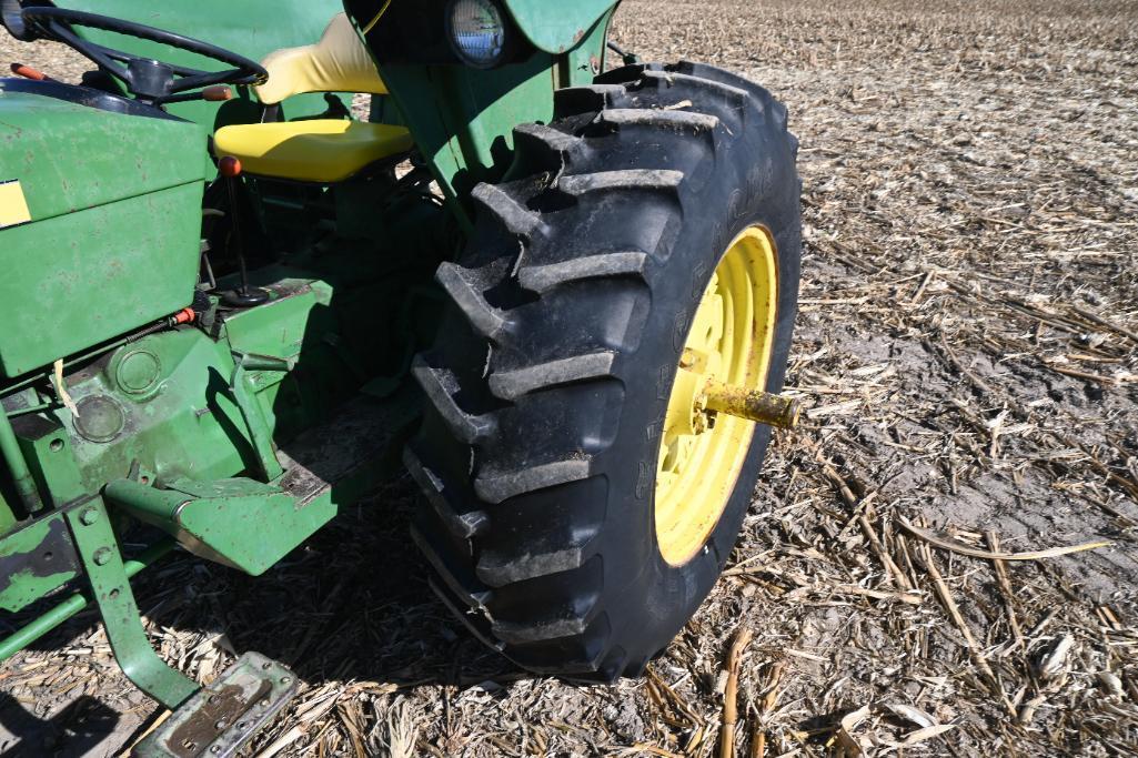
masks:
MULTIPOLYGON (((254 90, 266 105, 304 92, 387 93, 343 13, 332 16, 315 44, 277 50, 262 65, 269 81, 254 90)), ((336 118, 234 124, 214 134, 214 154, 237 158, 244 172, 320 183, 343 181, 411 146, 411 133, 402 126, 336 118)))

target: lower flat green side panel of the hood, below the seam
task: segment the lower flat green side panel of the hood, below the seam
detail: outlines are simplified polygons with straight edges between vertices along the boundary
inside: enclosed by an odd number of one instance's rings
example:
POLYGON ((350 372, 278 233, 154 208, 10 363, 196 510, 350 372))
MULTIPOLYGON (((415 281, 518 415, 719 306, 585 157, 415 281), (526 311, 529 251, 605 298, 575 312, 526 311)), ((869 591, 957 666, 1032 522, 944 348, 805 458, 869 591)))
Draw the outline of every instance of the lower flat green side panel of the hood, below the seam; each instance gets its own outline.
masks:
POLYGON ((189 305, 201 190, 172 187, 0 231, 0 372, 19 376, 189 305))

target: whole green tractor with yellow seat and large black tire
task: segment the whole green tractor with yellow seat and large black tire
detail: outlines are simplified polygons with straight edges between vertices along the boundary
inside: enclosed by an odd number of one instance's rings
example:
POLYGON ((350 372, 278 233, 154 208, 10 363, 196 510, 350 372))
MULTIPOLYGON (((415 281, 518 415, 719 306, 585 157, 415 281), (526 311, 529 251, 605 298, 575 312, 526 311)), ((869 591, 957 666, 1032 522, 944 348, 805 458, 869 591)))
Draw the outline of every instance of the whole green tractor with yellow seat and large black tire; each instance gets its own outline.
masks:
POLYGON ((175 710, 141 755, 230 755, 296 677, 201 687, 131 577, 261 575, 402 470, 495 650, 665 649, 797 418, 800 183, 782 105, 637 63, 618 5, 0 0, 93 64, 0 80, 0 658, 93 604, 175 710))

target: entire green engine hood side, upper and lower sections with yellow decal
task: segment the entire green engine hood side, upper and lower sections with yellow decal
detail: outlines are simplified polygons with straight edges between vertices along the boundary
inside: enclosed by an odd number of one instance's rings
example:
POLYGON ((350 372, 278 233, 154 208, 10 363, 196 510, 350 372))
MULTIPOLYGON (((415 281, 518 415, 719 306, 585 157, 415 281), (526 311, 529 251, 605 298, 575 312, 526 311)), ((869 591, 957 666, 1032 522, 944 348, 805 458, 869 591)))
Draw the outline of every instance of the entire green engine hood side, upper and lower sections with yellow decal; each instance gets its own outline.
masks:
POLYGON ((0 90, 0 377, 190 304, 206 135, 0 90))

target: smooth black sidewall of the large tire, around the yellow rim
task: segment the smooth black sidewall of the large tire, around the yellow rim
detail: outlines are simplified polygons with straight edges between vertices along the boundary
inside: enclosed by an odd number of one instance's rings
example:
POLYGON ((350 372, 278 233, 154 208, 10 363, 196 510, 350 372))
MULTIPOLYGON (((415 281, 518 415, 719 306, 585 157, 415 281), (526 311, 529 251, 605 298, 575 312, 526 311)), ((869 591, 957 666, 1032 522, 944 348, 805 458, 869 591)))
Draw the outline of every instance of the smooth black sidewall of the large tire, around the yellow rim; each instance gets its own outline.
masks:
POLYGON ((613 641, 634 659, 662 650, 710 592, 739 536, 770 440, 770 428, 759 425, 704 546, 682 566, 668 563, 660 554, 654 521, 655 471, 668 398, 711 275, 731 242, 753 225, 770 233, 777 262, 767 390, 780 392, 785 377, 801 255, 799 182, 789 146, 770 139, 766 131, 758 137, 731 146, 723 153, 723 164, 732 170, 717 165, 710 182, 687 192, 681 232, 653 283, 644 340, 621 372, 625 405, 620 434, 602 463, 609 502, 604 544, 597 552, 605 560, 603 605, 613 641))

